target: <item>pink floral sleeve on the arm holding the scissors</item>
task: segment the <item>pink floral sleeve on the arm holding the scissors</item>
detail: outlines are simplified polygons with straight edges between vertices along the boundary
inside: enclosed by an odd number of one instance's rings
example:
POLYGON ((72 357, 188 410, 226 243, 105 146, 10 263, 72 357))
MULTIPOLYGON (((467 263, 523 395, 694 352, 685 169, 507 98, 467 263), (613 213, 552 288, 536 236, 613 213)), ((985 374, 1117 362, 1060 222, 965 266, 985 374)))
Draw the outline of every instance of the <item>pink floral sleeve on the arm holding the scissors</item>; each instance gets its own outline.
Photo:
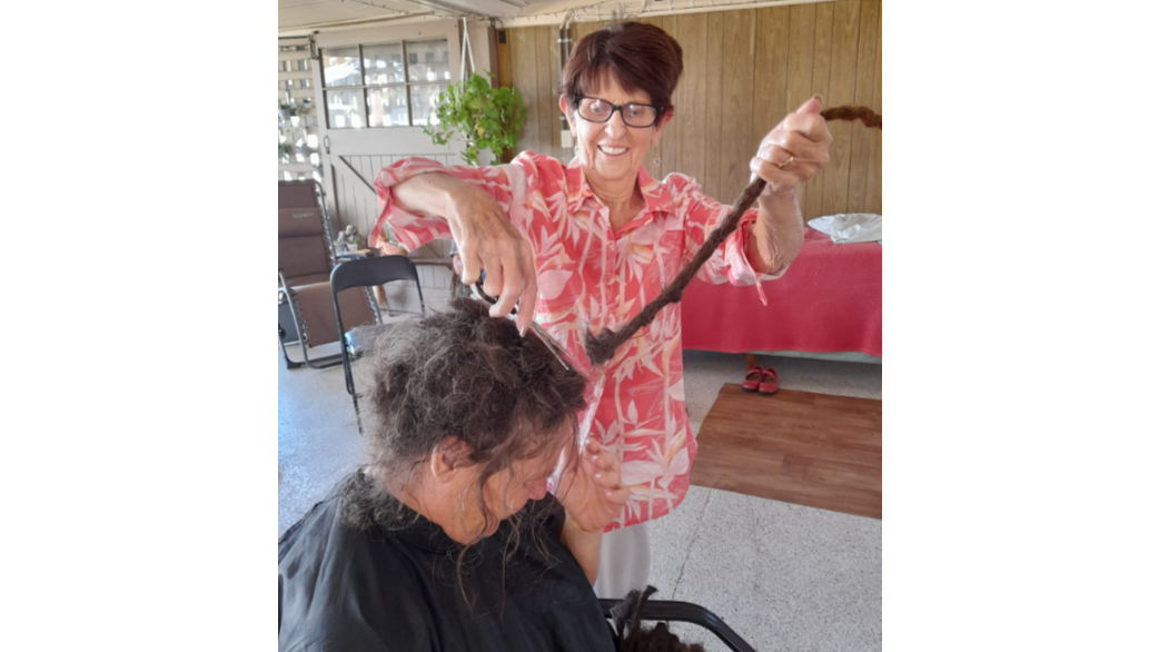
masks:
POLYGON ((444 166, 422 158, 399 161, 382 168, 374 178, 379 218, 370 236, 371 246, 385 237, 385 230, 389 230, 394 238, 410 251, 435 239, 451 239, 451 230, 444 216, 415 215, 394 202, 392 189, 395 186, 420 174, 431 173, 450 174, 487 191, 495 197, 503 212, 525 238, 529 233, 535 232, 533 227, 535 209, 546 205, 544 190, 557 187, 563 181, 563 168, 559 161, 531 152, 519 154, 510 165, 484 167, 444 166))

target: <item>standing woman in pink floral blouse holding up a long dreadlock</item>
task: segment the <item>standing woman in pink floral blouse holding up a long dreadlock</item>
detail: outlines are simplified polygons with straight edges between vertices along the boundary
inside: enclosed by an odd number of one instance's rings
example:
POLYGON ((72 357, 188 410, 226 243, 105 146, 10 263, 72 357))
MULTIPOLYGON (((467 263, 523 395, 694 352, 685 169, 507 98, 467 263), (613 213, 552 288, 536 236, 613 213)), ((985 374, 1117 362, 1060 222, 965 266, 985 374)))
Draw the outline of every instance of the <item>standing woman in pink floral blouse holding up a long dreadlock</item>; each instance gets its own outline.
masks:
MULTIPOLYGON (((400 161, 376 180, 382 213, 372 238, 386 227, 411 251, 453 238, 464 283, 486 269, 483 289, 498 297, 493 314, 534 306, 519 311, 520 328, 534 318, 585 361, 585 333, 635 316, 729 212, 694 179, 656 181, 643 168, 675 115, 683 70, 680 45, 657 27, 629 22, 588 35, 560 89, 576 140, 570 165, 531 152, 482 168, 400 161)), ((794 188, 829 161, 832 137, 819 114, 814 97, 761 142, 750 167, 768 187, 701 280, 756 284, 763 297, 760 283, 793 262, 804 232, 794 188)), ((620 456, 630 495, 604 537, 596 591, 621 597, 647 586, 647 522, 684 500, 697 451, 684 406, 679 304, 621 347, 604 374, 602 396, 591 397, 590 436, 620 456)))

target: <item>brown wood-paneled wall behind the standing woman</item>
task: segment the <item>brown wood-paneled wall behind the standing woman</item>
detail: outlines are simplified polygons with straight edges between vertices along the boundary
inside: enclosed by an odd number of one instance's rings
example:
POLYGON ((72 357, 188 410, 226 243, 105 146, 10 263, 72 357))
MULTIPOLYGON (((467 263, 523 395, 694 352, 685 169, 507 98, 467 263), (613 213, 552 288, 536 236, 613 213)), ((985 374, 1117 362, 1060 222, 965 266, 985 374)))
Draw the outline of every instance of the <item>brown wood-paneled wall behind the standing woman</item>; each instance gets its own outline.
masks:
MULTIPOLYGON (((749 160, 761 138, 812 95, 826 107, 865 104, 881 113, 883 0, 845 0, 643 19, 684 48, 676 118, 661 140, 653 176, 680 172, 731 203, 749 182, 749 160)), ((573 37, 600 29, 580 23, 573 37)), ((506 30, 498 45, 500 82, 523 94, 527 119, 517 151, 567 162, 560 147, 556 27, 506 30)), ((832 123, 831 161, 797 196, 807 219, 841 212, 882 212, 882 135, 832 123)))

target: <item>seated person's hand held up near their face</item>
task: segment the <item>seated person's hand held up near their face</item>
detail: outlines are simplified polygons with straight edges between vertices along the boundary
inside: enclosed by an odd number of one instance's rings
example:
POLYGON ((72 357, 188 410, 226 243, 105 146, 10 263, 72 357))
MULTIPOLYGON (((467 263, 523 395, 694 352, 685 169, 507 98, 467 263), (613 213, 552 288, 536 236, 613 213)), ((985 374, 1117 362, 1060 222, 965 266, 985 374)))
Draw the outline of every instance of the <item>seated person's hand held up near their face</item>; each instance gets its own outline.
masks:
POLYGON ((615 520, 628 501, 629 491, 620 485, 620 456, 591 440, 580 451, 560 479, 555 497, 568 512, 571 527, 585 534, 599 534, 615 520))

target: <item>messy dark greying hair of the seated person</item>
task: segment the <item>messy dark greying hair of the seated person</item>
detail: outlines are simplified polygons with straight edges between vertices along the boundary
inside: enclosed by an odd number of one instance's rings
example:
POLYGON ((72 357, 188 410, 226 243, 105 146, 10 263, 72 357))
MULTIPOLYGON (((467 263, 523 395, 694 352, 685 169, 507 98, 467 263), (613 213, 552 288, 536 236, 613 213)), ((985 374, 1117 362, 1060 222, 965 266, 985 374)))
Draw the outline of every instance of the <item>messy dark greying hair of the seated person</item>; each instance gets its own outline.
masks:
POLYGON ((373 379, 359 403, 373 484, 344 490, 347 526, 408 527, 414 513, 386 499, 381 483, 409 479, 446 439, 466 443, 471 463, 481 466, 474 493, 488 526, 497 520, 483 501, 488 478, 563 442, 577 445, 583 377, 564 369, 538 338, 522 338, 513 321, 491 318, 489 310, 454 297, 445 312, 392 328, 364 358, 373 379))

